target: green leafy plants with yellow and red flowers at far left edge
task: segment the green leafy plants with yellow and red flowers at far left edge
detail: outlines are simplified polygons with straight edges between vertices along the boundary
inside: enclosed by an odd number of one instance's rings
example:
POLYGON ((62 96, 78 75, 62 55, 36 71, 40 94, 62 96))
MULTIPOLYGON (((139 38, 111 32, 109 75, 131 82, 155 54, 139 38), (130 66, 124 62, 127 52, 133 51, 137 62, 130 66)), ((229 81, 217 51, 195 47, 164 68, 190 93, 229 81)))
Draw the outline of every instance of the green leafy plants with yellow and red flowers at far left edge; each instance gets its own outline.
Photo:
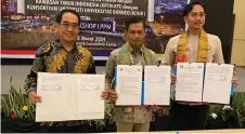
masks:
POLYGON ((18 90, 12 85, 12 77, 9 80, 9 96, 5 98, 1 95, 1 110, 4 117, 12 119, 34 121, 35 107, 29 102, 28 97, 22 93, 21 86, 18 90))

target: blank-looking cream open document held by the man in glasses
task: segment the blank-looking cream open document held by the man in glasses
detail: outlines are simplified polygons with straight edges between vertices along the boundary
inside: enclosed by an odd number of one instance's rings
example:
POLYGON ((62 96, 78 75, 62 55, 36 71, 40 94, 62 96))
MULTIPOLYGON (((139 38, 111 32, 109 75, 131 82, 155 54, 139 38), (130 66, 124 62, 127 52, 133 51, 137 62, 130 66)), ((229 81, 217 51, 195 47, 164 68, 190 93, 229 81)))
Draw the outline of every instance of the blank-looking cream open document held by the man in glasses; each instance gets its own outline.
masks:
POLYGON ((104 119, 104 75, 38 73, 36 121, 104 119))

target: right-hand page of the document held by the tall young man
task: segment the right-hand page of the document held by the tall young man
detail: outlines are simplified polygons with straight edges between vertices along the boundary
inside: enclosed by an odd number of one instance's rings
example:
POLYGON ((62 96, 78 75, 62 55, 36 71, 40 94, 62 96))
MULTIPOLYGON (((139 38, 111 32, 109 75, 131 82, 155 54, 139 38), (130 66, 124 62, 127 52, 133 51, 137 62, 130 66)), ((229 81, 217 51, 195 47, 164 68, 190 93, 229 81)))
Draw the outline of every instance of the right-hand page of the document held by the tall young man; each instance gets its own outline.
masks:
POLYGON ((229 104, 234 65, 206 64, 203 102, 229 104))

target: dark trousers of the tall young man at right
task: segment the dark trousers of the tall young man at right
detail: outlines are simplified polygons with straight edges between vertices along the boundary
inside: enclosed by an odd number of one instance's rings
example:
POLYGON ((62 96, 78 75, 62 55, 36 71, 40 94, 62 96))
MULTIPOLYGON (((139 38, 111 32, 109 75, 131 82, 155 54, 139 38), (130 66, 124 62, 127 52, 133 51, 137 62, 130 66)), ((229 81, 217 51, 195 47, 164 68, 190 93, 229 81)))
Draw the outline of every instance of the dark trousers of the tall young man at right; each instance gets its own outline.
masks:
POLYGON ((171 103, 170 129, 172 131, 204 130, 208 115, 208 105, 183 105, 171 103))

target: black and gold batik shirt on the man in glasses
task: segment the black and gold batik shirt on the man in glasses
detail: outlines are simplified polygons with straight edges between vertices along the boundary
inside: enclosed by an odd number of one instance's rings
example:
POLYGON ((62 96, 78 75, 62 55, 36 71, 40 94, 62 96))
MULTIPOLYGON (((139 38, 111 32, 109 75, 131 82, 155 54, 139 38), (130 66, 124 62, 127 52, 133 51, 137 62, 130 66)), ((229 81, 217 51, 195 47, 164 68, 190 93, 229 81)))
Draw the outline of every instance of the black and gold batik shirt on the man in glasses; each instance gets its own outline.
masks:
MULTIPOLYGON (((37 90, 38 72, 95 73, 92 54, 81 45, 74 44, 68 52, 60 40, 41 45, 36 53, 30 73, 25 81, 26 93, 37 90)), ((55 98, 55 97, 54 97, 55 98)), ((79 125, 80 121, 55 123, 57 125, 79 125)))

